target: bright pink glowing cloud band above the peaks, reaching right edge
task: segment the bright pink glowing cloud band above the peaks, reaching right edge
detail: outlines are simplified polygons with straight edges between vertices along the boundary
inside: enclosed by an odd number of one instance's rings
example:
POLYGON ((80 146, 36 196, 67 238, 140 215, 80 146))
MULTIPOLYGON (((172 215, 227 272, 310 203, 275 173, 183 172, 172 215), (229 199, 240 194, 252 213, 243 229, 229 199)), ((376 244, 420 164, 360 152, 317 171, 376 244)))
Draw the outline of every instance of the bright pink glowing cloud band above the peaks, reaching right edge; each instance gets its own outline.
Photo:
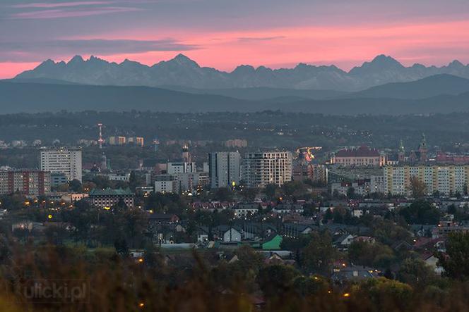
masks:
MULTIPOLYGON (((232 70, 239 64, 291 67, 300 62, 336 64, 349 70, 378 54, 387 54, 404 65, 425 63, 444 65, 459 58, 469 62, 467 37, 469 20, 447 23, 415 23, 405 25, 361 25, 358 27, 290 27, 258 32, 179 32, 159 30, 178 38, 184 44, 202 49, 184 52, 201 65, 232 70), (239 38, 261 38, 240 40, 239 38), (267 40, 265 38, 271 38, 267 40), (262 40, 264 39, 264 40, 262 40), (446 51, 446 53, 445 53, 446 51)), ((107 36, 154 39, 155 34, 127 32, 107 36)), ((172 58, 174 52, 155 51, 142 54, 107 56, 112 61, 130 58, 151 65, 172 58)))

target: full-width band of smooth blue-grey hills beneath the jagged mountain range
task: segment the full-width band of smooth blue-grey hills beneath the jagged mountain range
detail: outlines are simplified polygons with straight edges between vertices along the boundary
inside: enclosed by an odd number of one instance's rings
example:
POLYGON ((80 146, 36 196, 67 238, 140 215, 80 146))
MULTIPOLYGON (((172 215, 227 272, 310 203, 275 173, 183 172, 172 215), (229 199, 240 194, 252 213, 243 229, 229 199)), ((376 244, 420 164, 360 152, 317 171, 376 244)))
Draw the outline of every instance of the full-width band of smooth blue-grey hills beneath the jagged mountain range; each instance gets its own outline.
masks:
POLYGON ((469 92, 428 99, 302 100, 280 96, 247 101, 213 94, 189 94, 151 87, 54 85, 0 82, 2 113, 44 111, 265 111, 283 110, 331 115, 451 113, 469 111, 469 92))

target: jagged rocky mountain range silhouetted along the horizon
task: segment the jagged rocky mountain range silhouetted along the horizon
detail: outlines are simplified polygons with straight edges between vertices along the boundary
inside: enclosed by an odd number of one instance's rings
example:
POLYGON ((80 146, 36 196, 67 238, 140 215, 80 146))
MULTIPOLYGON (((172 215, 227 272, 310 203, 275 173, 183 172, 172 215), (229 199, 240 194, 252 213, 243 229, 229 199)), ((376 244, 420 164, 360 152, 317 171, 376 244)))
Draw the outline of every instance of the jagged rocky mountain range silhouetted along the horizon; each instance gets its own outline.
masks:
MULTIPOLYGON (((295 68, 271 69, 264 66, 239 65, 231 73, 215 68, 201 67, 190 58, 179 54, 170 61, 148 66, 126 60, 109 63, 94 56, 83 60, 75 56, 69 62, 48 60, 33 70, 25 71, 17 78, 48 78, 77 82, 85 85, 122 86, 177 86, 197 89, 232 88, 281 88, 359 91, 389 82, 408 82, 439 74, 469 78, 469 65, 453 61, 443 67, 415 64, 401 65, 389 56, 376 56, 371 62, 345 72, 335 65, 307 65, 299 63, 295 68)), ((297 96, 282 94, 281 96, 297 96)))

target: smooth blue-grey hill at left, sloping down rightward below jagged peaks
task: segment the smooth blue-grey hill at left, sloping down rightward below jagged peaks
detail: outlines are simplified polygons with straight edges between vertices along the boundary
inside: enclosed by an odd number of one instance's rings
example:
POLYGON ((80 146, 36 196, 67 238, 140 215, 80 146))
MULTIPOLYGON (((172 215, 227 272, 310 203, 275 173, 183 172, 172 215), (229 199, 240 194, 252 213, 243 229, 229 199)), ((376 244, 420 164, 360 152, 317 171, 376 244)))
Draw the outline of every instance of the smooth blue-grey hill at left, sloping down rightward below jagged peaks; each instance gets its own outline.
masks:
POLYGON ((2 113, 43 111, 252 111, 249 101, 150 87, 0 82, 2 113))

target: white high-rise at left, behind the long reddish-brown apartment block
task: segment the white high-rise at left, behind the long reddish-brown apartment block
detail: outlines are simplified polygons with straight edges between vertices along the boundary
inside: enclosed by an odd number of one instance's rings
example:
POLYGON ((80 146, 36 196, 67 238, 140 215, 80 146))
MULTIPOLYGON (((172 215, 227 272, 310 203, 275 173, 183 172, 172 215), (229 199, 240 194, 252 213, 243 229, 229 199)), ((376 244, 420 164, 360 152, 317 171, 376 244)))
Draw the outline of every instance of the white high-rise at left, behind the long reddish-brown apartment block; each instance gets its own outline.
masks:
POLYGON ((40 169, 64 173, 69 181, 81 182, 81 149, 44 149, 41 151, 40 169))

